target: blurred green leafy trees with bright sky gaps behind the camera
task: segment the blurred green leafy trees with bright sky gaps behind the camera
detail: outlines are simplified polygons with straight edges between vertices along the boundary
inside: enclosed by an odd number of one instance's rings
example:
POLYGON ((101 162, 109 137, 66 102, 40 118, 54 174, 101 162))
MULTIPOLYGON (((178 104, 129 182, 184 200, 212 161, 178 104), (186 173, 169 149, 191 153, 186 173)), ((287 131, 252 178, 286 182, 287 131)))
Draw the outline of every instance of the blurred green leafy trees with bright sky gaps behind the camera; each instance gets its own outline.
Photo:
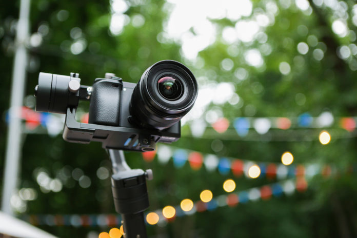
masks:
MULTIPOLYGON (((189 125, 195 121, 209 124, 215 117, 233 121, 239 116, 296 117, 304 112, 319 116, 328 111, 339 117, 354 116, 357 112, 354 1, 242 1, 229 10, 231 2, 33 0, 26 95, 33 93, 40 71, 65 75, 78 72, 84 85, 92 84, 95 77, 102 77, 105 72, 136 83, 153 63, 176 60, 194 72, 200 90, 206 90, 200 98, 206 103, 200 103, 201 107, 197 106, 195 113, 185 118, 182 138, 174 146, 274 163, 279 163, 281 154, 288 150, 294 154, 294 163, 329 163, 341 170, 353 165, 357 152, 355 134, 343 129, 331 132, 332 141, 326 146, 319 143, 320 130, 316 129, 284 131, 280 140, 274 130, 266 135, 251 130, 248 135, 253 136, 246 138, 232 130, 191 135, 189 125), (243 5, 249 4, 252 7, 247 13, 243 5), (181 25, 179 22, 169 28, 179 5, 187 14, 179 15, 181 25), (211 10, 209 6, 213 6, 211 10), (221 8, 230 14, 220 15, 221 8), (259 18, 260 14, 265 17, 259 18), (202 15, 206 17, 203 25, 202 15), (192 26, 180 32, 187 19, 192 19, 192 26), (260 25, 248 24, 248 29, 242 28, 247 32, 242 31, 239 22, 249 21, 260 25), (249 33, 254 27, 258 30, 249 33), (249 60, 251 57, 253 60, 249 60), (223 91, 207 93, 214 92, 214 88, 223 91), (225 93, 231 98, 222 99, 220 95, 225 93), (221 149, 214 146, 217 140, 223 145, 221 149)), ((9 107, 19 1, 3 2, 1 6, 0 111, 4 120, 0 123, 0 154, 5 157, 5 114, 9 107)), ((31 98, 25 97, 24 104, 33 106, 31 98)), ((198 200, 203 189, 212 190, 214 195, 224 194, 222 183, 227 178, 234 179, 237 190, 272 182, 266 178, 236 178, 231 173, 222 175, 204 168, 193 171, 188 164, 176 169, 172 161, 162 165, 155 158, 146 163, 139 153, 126 155, 132 168, 154 171, 154 180, 148 182, 150 210, 179 204, 186 197, 198 200)), ((110 180, 100 180, 96 175, 100 167, 110 170, 108 155, 100 144, 77 145, 64 142, 61 135, 24 134, 21 163, 19 188, 33 188, 37 197, 18 208, 19 216, 114 213, 110 180), (58 192, 46 191, 37 184, 36 174, 40 171, 56 177, 61 171, 71 173, 75 168, 90 178, 90 187, 81 187, 73 177, 58 192)), ((0 160, 0 166, 3 165, 4 160, 0 160)), ((3 170, 0 173, 2 177, 3 170)), ((355 237, 356 182, 355 171, 330 178, 316 176, 308 181, 305 193, 176 217, 165 226, 148 226, 148 234, 150 237, 355 237)), ((95 237, 95 232, 109 229, 41 228, 59 237, 95 237)))

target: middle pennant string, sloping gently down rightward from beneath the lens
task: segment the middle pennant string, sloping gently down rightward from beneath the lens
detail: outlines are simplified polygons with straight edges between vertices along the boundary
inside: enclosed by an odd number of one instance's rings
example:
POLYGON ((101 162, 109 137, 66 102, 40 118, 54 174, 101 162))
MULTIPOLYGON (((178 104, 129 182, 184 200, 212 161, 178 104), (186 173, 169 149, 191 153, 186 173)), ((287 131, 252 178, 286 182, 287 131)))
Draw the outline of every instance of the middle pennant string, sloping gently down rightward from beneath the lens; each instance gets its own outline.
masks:
MULTIPOLYGON (((321 174, 324 177, 328 177, 337 171, 336 168, 330 165, 291 165, 294 158, 290 152, 282 154, 281 163, 271 163, 241 160, 232 157, 217 157, 214 154, 203 154, 198 151, 160 145, 157 148, 157 153, 156 151, 144 152, 143 158, 146 162, 151 162, 156 154, 158 161, 162 164, 168 163, 172 158, 173 165, 176 168, 182 168, 188 162, 194 171, 200 170, 204 166, 209 172, 218 170, 222 175, 228 175, 231 172, 236 177, 245 175, 249 178, 267 177, 283 180, 287 177, 291 178, 300 175, 314 176, 321 174)), ((349 170, 357 170, 357 167, 350 167, 349 170)))

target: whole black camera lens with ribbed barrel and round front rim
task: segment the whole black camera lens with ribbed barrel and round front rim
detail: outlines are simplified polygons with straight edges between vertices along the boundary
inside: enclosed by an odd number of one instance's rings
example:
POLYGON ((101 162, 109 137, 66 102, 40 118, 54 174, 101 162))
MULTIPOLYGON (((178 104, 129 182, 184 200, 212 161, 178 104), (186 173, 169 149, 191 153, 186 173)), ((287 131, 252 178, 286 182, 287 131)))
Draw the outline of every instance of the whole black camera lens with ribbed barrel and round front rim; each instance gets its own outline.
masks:
POLYGON ((135 86, 130 114, 142 127, 166 129, 190 111, 197 94, 197 82, 186 66, 160 61, 149 67, 135 86))

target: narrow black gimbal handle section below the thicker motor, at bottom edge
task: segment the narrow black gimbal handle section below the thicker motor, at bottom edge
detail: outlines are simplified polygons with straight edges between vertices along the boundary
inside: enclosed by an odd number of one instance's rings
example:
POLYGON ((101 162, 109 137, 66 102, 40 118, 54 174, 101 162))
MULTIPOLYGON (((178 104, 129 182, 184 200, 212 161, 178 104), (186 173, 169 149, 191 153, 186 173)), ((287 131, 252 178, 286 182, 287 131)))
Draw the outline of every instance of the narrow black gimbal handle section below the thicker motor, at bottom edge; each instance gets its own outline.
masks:
POLYGON ((147 238, 144 213, 122 214, 125 238, 147 238))

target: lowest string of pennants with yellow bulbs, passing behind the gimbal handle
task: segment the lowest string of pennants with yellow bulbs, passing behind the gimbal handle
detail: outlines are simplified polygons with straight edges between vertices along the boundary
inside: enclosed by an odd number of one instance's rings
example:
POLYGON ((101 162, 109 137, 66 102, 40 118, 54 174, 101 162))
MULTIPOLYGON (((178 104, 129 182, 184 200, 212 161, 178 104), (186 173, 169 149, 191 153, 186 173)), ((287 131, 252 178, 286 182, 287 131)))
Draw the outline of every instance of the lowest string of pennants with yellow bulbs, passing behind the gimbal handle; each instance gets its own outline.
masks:
MULTIPOLYGON (((180 205, 165 206, 162 209, 148 212, 145 214, 145 221, 150 225, 163 226, 174 221, 175 217, 192 215, 196 212, 214 211, 225 206, 235 207, 250 201, 267 201, 271 197, 281 197, 283 194, 291 195, 295 191, 305 192, 307 186, 305 177, 300 176, 295 181, 287 180, 238 192, 229 192, 216 197, 213 197, 212 192, 206 189, 200 193, 199 201, 193 202, 190 199, 184 199, 180 205)), ((35 226, 114 227, 121 225, 119 214, 31 214, 23 215, 22 219, 35 226)))

